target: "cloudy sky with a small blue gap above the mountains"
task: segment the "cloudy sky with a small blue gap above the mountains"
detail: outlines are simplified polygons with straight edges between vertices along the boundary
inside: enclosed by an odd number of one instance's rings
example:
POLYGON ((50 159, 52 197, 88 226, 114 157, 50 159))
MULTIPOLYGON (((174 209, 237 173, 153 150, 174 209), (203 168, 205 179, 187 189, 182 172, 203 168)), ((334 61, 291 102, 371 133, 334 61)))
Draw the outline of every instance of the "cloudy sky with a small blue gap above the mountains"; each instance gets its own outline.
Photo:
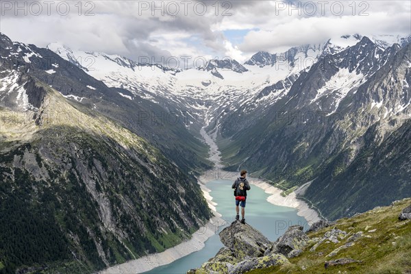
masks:
POLYGON ((5 1, 0 32, 46 47, 149 56, 229 56, 324 42, 345 34, 408 36, 411 1, 5 1))

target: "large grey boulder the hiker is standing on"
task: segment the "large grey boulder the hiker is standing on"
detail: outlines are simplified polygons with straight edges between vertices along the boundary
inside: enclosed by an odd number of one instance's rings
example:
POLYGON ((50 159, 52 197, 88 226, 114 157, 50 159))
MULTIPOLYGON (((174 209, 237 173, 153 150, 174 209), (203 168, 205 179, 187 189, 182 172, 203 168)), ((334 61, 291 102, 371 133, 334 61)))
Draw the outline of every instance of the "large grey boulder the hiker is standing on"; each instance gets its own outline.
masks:
POLYGON ((251 225, 234 221, 220 232, 225 247, 231 249, 234 257, 243 260, 248 257, 261 257, 271 245, 269 239, 251 225))

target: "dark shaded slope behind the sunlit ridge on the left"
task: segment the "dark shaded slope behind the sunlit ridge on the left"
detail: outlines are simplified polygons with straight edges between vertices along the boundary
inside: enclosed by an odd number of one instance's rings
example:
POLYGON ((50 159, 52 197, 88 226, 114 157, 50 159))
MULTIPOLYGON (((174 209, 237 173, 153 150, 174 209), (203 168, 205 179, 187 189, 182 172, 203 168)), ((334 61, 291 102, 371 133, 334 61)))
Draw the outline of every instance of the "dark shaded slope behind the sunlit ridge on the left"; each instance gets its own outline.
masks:
MULTIPOLYGON (((52 86, 66 98, 115 119, 132 132, 149 140, 167 158, 187 171, 200 173, 210 168, 206 145, 188 132, 188 114, 162 108, 123 88, 109 88, 48 49, 12 42, 0 34, 3 68, 21 68, 52 86), (134 97, 134 99, 132 99, 134 97)), ((93 69, 92 60, 83 66, 93 69)), ((84 63, 86 62, 86 63, 84 63)), ((97 64, 96 64, 97 66, 97 64)), ((100 66, 99 66, 100 67, 100 66)))

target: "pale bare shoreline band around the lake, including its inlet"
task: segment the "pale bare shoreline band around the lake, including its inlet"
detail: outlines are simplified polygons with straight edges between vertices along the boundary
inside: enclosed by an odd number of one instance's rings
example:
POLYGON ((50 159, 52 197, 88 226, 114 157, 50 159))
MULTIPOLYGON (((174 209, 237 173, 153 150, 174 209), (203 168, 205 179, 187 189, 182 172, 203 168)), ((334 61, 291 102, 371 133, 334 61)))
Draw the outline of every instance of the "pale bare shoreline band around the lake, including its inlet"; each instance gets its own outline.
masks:
MULTIPOLYGON (((221 164, 221 156, 219 148, 214 142, 214 136, 209 136, 206 131, 201 129, 201 136, 203 136, 205 142, 210 147, 209 155, 210 160, 214 163, 214 169, 205 171, 202 175, 197 177, 197 184, 199 184, 203 197, 206 199, 208 207, 212 211, 212 218, 200 227, 197 232, 192 234, 189 240, 179 243, 175 247, 171 247, 162 251, 161 253, 153 253, 147 256, 143 256, 136 260, 129 260, 123 264, 117 264, 110 266, 110 268, 103 271, 99 271, 98 274, 119 274, 119 273, 144 273, 151 271, 158 266, 170 264, 175 260, 183 258, 195 251, 199 251, 205 247, 205 242, 216 234, 221 225, 225 225, 227 221, 221 218, 221 214, 216 211, 217 203, 213 201, 213 197, 210 195, 210 189, 207 188, 207 183, 216 179, 227 179, 232 182, 239 177, 238 172, 223 171, 223 164, 221 164)), ((270 196, 266 199, 269 203, 275 206, 286 206, 288 208, 297 209, 297 215, 302 216, 311 225, 315 221, 319 221, 319 214, 312 210, 307 203, 298 199, 295 192, 290 193, 286 197, 281 196, 282 190, 275 188, 263 179, 248 177, 251 185, 257 186, 268 193, 270 196)))

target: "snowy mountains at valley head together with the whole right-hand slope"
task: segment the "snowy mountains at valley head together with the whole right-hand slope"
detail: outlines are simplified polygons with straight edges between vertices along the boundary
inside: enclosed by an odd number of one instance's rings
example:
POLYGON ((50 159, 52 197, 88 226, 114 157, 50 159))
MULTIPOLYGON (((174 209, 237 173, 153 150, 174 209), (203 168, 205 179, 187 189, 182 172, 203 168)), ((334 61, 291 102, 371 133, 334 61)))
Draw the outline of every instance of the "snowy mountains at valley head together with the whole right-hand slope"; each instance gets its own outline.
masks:
POLYGON ((192 134, 208 125, 228 169, 284 190, 304 185, 301 197, 335 219, 411 196, 410 41, 347 35, 182 71, 100 66, 93 53, 97 69, 88 73, 188 113, 192 134))

